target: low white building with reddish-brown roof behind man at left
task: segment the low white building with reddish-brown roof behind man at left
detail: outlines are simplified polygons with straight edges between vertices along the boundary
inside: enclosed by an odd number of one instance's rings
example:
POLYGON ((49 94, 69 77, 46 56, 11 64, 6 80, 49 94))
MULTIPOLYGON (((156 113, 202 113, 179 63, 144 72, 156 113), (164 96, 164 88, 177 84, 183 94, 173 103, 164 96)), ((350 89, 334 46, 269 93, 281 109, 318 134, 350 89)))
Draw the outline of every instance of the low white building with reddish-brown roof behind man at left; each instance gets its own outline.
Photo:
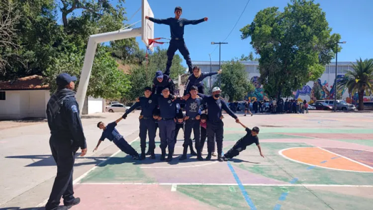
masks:
MULTIPOLYGON (((46 118, 49 85, 38 75, 0 82, 0 119, 46 118)), ((83 114, 105 111, 105 100, 89 97, 83 114)))

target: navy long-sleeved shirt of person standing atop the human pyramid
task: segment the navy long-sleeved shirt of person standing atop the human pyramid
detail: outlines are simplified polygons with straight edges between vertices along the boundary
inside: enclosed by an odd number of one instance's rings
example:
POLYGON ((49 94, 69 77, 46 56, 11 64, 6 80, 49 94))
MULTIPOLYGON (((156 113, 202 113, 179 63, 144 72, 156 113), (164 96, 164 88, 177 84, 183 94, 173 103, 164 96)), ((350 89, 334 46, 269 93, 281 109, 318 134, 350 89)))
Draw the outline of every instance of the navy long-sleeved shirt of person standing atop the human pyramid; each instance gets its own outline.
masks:
POLYGON ((156 19, 149 17, 149 20, 158 24, 166 24, 170 26, 171 38, 183 38, 184 37, 184 26, 185 25, 196 25, 204 21, 204 18, 199 20, 187 20, 185 18, 175 19, 170 17, 167 19, 156 19))

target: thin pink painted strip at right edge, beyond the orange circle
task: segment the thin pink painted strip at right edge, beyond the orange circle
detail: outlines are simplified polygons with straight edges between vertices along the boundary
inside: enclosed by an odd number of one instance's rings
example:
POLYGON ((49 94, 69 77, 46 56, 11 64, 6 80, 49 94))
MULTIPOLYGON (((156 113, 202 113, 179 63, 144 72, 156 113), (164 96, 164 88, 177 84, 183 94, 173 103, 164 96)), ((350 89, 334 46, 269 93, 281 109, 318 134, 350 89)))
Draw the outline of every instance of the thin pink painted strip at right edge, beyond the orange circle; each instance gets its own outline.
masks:
POLYGON ((314 138, 326 138, 326 139, 373 139, 372 134, 367 133, 280 133, 284 135, 297 135, 314 138))

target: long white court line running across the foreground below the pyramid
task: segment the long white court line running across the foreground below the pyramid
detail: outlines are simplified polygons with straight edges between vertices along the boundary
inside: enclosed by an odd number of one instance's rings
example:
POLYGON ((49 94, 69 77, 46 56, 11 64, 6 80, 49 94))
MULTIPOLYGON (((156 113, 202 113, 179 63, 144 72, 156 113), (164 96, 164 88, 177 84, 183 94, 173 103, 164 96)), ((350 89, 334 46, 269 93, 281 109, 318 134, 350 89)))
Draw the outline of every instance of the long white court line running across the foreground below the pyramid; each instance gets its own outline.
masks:
MULTIPOLYGON (((237 183, 141 183, 141 182, 97 182, 97 183, 79 183, 79 185, 203 185, 203 186, 238 186, 237 183)), ((358 187, 373 188, 373 185, 318 185, 318 184, 242 184, 244 186, 268 186, 268 187, 358 187)), ((176 187, 175 187, 176 188, 176 187)))

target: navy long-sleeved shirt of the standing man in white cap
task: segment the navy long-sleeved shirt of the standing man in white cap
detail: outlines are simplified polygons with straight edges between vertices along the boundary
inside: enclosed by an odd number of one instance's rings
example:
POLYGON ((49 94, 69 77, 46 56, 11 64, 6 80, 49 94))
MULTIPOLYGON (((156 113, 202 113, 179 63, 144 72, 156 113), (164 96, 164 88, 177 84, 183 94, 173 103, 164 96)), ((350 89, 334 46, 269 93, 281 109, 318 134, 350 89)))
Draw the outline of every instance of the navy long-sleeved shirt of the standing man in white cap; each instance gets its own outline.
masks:
POLYGON ((233 113, 231 109, 228 108, 224 100, 215 100, 212 96, 206 96, 203 94, 198 94, 199 97, 203 99, 202 104, 207 103, 208 105, 208 121, 218 121, 220 120, 221 110, 224 109, 230 116, 237 119, 237 116, 233 113))

